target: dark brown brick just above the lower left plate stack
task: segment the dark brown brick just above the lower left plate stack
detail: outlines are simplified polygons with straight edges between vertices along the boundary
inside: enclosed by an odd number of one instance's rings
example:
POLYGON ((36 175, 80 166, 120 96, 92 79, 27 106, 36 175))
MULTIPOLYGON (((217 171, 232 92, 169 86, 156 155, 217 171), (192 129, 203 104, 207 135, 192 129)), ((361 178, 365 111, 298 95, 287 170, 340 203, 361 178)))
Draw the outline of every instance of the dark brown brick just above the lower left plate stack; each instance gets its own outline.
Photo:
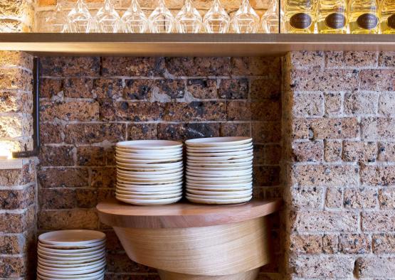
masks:
POLYGON ((41 230, 88 229, 98 227, 94 209, 42 210, 38 212, 38 228, 41 230))

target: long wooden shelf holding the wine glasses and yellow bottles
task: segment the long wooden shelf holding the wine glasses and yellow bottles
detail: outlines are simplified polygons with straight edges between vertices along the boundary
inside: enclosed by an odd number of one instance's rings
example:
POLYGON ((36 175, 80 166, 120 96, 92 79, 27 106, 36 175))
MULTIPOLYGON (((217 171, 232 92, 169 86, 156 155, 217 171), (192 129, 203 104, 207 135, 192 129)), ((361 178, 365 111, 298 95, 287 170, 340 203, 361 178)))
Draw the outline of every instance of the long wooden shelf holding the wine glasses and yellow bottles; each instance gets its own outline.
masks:
POLYGON ((1 33, 0 50, 33 55, 257 56, 290 50, 395 51, 395 35, 1 33))

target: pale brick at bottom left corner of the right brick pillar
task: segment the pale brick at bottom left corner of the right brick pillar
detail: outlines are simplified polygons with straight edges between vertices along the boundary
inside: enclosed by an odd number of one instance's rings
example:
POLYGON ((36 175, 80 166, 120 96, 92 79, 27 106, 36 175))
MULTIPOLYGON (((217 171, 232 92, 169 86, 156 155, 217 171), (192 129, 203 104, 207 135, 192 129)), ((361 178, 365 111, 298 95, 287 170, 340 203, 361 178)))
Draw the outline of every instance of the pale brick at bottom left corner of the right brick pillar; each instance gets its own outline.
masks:
POLYGON ((307 278, 349 278, 354 269, 354 258, 346 256, 295 256, 290 262, 295 276, 307 278))

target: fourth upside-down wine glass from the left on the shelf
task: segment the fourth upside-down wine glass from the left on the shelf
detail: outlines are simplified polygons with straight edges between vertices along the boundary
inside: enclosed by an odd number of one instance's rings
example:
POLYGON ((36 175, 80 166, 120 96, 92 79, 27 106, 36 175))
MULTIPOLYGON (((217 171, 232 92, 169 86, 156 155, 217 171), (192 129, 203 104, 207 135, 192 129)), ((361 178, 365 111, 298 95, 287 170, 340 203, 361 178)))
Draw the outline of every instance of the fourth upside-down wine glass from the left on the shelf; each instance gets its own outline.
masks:
POLYGON ((122 16, 122 22, 125 33, 144 33, 148 30, 148 18, 137 0, 132 0, 129 9, 122 16))

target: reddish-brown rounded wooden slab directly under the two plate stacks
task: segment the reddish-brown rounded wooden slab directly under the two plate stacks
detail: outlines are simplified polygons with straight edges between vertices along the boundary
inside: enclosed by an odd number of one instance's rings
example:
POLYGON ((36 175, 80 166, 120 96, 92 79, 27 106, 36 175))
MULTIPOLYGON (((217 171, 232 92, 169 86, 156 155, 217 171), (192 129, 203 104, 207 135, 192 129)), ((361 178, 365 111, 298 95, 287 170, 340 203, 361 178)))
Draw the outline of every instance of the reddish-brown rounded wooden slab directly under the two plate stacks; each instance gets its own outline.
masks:
POLYGON ((112 227, 184 228, 225 225, 270 215, 280 210, 283 200, 251 200, 238 205, 199 205, 188 202, 158 206, 137 206, 108 200, 99 203, 100 221, 112 227))

